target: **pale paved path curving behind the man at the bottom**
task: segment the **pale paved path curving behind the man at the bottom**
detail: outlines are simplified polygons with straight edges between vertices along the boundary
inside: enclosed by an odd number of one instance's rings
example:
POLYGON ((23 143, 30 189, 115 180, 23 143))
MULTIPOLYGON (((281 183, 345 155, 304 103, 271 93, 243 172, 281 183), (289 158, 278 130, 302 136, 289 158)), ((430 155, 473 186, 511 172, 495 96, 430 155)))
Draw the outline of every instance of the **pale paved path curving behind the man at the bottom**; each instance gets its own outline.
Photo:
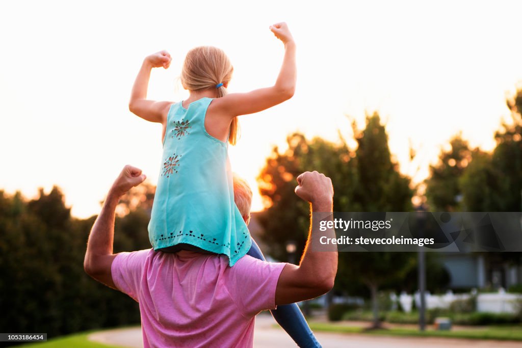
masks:
MULTIPOLYGON (((296 347, 286 332, 274 328, 275 323, 270 315, 260 314, 256 318, 254 331, 255 348, 296 347)), ((482 341, 445 338, 419 337, 385 337, 364 334, 340 334, 318 332, 316 337, 324 348, 440 348, 440 347, 473 347, 473 348, 520 348, 520 342, 482 341)), ((129 348, 143 348, 141 328, 116 329, 100 331, 89 335, 89 340, 121 345, 129 348)))

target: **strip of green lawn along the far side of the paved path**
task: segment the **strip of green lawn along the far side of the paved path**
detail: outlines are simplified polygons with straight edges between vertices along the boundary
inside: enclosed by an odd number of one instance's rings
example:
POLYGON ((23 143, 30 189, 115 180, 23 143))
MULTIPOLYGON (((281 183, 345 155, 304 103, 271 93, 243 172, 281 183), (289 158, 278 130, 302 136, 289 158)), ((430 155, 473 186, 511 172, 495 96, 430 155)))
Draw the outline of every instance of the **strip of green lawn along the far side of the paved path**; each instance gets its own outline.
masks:
POLYGON ((459 329, 452 331, 426 330, 424 332, 417 329, 390 328, 382 330, 365 330, 361 327, 342 326, 328 322, 310 322, 310 328, 317 331, 339 332, 339 333, 364 333, 376 335, 393 336, 416 336, 416 337, 446 337, 446 338, 466 338, 480 340, 514 340, 522 341, 522 325, 510 326, 489 326, 480 329, 459 329))

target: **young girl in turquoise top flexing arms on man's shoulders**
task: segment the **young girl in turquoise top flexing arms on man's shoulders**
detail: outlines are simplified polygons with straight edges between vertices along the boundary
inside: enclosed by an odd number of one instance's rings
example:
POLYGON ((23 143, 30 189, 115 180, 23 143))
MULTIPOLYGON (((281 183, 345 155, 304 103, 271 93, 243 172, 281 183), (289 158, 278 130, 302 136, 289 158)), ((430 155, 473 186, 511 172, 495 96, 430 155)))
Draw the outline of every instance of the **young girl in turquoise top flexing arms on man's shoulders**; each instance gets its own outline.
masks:
MULTIPOLYGON (((178 103, 147 100, 151 68, 167 69, 171 57, 161 51, 145 58, 129 110, 163 126, 163 162, 149 222, 155 250, 224 254, 230 267, 251 248, 251 254, 263 258, 234 203, 228 143, 235 145, 237 116, 266 110, 294 93, 292 35, 286 23, 270 30, 285 47, 279 76, 274 86, 248 93, 227 94, 232 65, 222 50, 204 46, 189 51, 183 64, 181 83, 190 92, 188 99, 178 103)), ((296 343, 319 346, 297 305, 280 306, 272 313, 296 343)))

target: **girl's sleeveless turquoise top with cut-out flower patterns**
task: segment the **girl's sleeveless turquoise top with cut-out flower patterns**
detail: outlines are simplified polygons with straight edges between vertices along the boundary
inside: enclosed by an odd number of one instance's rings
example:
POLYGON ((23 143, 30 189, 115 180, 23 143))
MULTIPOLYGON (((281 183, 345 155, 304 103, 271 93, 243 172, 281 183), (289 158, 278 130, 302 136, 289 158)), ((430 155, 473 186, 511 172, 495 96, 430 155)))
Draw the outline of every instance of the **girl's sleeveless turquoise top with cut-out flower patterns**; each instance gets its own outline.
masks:
POLYGON ((252 241, 234 203, 228 143, 205 129, 211 102, 170 107, 149 239, 154 250, 185 243, 227 255, 232 267, 252 241))

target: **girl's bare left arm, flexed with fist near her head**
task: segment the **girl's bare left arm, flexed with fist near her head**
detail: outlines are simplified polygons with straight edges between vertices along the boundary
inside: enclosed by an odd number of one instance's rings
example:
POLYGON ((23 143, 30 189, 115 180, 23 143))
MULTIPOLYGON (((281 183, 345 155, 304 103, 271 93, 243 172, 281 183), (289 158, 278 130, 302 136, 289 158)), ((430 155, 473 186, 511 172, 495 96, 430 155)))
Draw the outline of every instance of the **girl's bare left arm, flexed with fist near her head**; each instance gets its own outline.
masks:
POLYGON ((150 122, 165 123, 167 112, 172 102, 147 100, 147 89, 149 87, 150 70, 159 67, 167 69, 171 60, 169 52, 160 51, 151 54, 143 61, 143 65, 141 65, 138 76, 136 76, 134 81, 131 100, 129 100, 129 110, 136 116, 150 122))

